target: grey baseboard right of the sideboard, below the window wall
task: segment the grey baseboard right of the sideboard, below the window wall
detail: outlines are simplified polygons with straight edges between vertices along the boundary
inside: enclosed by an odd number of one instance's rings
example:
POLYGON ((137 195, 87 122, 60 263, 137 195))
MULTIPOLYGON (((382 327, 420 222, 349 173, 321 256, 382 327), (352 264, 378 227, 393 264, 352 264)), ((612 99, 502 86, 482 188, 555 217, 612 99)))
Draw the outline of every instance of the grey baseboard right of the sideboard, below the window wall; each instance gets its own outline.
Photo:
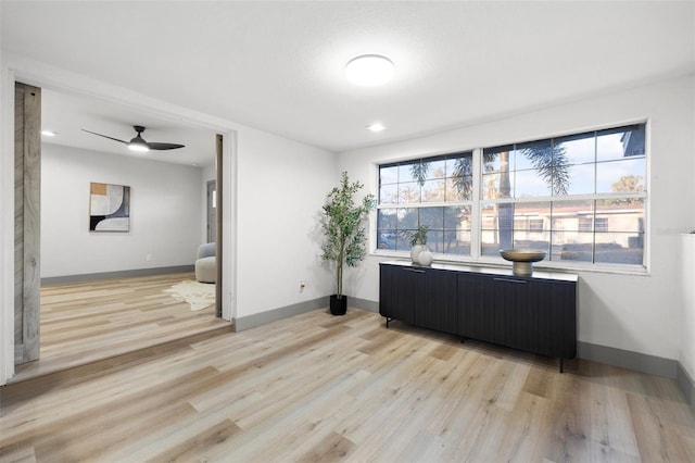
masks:
POLYGON ((577 356, 580 359, 670 379, 678 376, 675 360, 581 341, 577 342, 577 356))

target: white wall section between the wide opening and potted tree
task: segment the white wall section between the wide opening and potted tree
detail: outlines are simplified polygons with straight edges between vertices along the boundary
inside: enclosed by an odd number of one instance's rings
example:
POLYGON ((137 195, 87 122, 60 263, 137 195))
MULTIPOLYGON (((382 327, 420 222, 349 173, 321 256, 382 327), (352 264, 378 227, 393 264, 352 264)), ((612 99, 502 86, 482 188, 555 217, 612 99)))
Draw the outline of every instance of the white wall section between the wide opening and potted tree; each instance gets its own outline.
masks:
POLYGON ((339 180, 336 155, 254 129, 238 133, 238 153, 237 316, 319 297, 328 306, 316 227, 339 180))

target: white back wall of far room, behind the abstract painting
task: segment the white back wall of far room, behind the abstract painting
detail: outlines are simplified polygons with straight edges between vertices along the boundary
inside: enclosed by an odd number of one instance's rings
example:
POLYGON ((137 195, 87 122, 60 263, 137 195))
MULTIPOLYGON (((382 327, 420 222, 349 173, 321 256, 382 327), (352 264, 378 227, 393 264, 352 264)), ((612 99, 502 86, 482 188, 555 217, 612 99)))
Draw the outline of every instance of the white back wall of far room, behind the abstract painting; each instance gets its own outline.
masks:
POLYGON ((41 277, 192 265, 201 171, 43 143, 41 277), (89 232, 90 182, 130 187, 129 233, 89 232))

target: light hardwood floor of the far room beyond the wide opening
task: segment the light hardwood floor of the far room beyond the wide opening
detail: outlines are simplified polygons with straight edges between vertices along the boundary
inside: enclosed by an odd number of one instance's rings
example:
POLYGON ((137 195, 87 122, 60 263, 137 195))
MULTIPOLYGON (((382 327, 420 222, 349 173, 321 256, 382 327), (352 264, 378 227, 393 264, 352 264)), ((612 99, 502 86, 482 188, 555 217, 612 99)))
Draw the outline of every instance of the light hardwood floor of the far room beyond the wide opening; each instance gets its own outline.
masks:
POLYGON ((192 272, 41 288, 40 359, 12 381, 88 364, 200 333, 231 328, 164 292, 192 272))

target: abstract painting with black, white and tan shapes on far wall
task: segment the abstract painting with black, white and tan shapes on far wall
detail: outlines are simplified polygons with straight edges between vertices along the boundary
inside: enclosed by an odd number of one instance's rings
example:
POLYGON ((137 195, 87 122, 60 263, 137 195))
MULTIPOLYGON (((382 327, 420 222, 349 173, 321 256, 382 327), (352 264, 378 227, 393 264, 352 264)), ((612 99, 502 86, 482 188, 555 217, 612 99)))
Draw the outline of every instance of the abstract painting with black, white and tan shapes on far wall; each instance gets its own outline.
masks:
POLYGON ((130 230, 130 187, 89 184, 89 232, 130 230))

